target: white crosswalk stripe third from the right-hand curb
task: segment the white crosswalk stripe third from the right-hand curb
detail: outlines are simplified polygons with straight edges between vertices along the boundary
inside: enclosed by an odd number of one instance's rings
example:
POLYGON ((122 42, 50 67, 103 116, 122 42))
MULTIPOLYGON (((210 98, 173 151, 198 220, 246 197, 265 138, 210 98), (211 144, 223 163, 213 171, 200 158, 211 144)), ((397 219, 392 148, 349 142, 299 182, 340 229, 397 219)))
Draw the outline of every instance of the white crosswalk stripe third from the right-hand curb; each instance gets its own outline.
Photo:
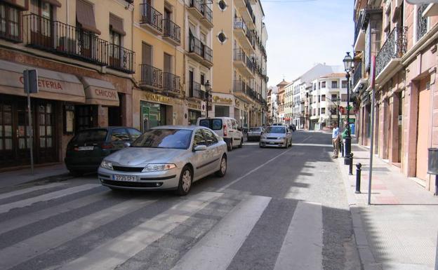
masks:
POLYGON ((95 248, 84 257, 79 257, 63 266, 67 269, 114 269, 126 262, 147 245, 164 236, 181 222, 187 220, 195 212, 204 208, 208 203, 218 198, 220 193, 202 192, 178 203, 171 209, 153 217, 138 227, 126 231, 121 236, 95 248))

